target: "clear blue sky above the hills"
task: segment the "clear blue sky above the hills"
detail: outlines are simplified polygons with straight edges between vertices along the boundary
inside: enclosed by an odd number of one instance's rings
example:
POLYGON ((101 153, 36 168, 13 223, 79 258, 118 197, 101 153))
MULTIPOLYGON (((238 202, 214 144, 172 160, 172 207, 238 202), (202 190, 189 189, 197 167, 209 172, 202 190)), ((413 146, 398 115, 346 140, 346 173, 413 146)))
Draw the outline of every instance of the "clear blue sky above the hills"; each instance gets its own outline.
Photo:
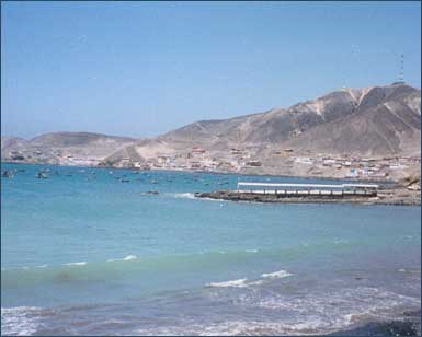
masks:
POLYGON ((152 137, 404 77, 420 2, 2 2, 1 131, 152 137))

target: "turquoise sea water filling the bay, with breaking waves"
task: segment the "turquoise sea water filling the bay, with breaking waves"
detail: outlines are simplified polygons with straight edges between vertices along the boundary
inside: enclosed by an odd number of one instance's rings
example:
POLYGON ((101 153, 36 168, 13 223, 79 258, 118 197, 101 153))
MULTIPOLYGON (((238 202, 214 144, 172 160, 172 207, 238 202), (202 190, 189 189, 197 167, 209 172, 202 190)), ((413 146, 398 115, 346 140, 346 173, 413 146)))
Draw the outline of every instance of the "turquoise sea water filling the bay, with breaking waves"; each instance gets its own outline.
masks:
POLYGON ((193 197, 293 178, 12 168, 2 334, 324 334, 420 307, 420 207, 193 197))

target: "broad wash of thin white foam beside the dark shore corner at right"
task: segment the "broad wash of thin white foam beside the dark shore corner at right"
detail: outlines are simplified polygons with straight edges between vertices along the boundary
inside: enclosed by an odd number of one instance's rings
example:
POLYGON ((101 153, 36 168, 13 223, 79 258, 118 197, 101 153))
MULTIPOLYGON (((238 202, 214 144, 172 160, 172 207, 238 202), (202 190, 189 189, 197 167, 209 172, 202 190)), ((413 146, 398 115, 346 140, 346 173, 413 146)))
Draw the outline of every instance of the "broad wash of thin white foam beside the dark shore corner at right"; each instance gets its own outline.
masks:
MULTIPOLYGON (((225 294, 226 295, 226 294, 225 294)), ((309 294, 306 298, 289 298, 282 293, 256 297, 255 292, 246 293, 237 300, 246 307, 283 310, 295 316, 295 321, 276 324, 265 321, 224 322, 209 324, 192 335, 320 335, 343 329, 364 319, 388 319, 396 316, 397 307, 420 305, 420 299, 376 288, 341 289, 332 293, 309 294), (356 302, 356 299, 360 301, 356 302)), ((287 315, 289 316, 289 315, 287 315)))

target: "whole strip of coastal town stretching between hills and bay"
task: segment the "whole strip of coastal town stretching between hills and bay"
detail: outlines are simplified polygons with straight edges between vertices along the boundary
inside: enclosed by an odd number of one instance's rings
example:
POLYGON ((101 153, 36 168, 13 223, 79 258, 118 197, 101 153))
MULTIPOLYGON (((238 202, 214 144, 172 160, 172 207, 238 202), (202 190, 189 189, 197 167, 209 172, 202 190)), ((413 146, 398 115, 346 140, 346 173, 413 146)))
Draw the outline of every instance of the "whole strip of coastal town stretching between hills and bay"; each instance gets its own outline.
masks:
POLYGON ((352 154, 296 153, 293 149, 231 148, 207 150, 192 147, 179 153, 158 153, 134 160, 130 156, 110 161, 66 153, 64 150, 18 151, 7 153, 7 162, 47 163, 67 166, 116 167, 132 170, 167 170, 260 175, 332 177, 363 181, 397 181, 418 173, 420 156, 358 156, 352 154))

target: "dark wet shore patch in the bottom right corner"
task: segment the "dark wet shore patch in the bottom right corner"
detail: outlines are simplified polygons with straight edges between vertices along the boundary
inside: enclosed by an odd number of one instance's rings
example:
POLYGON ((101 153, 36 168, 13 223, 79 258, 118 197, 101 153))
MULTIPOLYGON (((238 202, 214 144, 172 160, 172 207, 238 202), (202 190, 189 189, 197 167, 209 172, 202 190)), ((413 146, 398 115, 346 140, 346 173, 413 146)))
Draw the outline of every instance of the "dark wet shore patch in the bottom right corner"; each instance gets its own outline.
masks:
POLYGON ((350 330, 337 332, 328 336, 420 336, 420 321, 370 322, 350 330))

